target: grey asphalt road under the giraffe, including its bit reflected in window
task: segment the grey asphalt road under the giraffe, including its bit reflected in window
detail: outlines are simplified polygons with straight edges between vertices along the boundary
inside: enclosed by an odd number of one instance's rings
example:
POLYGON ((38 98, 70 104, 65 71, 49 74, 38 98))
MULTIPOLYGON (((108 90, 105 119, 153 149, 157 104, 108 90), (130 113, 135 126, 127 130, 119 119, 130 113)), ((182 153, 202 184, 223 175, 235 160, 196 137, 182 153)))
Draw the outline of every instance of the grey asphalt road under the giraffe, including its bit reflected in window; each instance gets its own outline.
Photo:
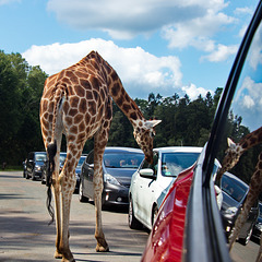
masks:
MULTIPOLYGON (((0 171, 0 261, 60 261, 53 259, 56 228, 46 210, 46 187, 40 181, 22 178, 22 171, 0 171)), ((95 209, 80 203, 73 194, 70 247, 76 261, 138 262, 148 234, 131 230, 126 210, 103 211, 103 224, 110 247, 108 253, 95 252, 95 209)), ((246 247, 235 243, 234 262, 255 261, 258 241, 246 247)))

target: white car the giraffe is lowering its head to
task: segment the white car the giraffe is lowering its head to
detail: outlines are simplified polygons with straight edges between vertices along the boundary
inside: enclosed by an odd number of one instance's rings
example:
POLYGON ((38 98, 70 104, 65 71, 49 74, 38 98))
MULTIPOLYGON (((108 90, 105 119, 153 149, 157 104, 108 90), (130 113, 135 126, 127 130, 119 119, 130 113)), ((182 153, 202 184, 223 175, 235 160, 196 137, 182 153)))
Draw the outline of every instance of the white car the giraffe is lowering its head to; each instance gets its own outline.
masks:
POLYGON ((133 174, 129 189, 129 226, 152 229, 156 214, 177 176, 192 166, 202 147, 170 146, 154 150, 154 163, 145 159, 133 174))

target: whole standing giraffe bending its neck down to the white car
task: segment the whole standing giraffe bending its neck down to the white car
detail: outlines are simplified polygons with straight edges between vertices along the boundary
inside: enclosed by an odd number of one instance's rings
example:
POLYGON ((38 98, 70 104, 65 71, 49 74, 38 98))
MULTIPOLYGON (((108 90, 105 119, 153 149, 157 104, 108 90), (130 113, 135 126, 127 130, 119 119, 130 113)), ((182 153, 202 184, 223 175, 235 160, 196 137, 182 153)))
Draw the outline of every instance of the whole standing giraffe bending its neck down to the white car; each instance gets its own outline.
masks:
POLYGON ((49 159, 47 206, 56 214, 55 258, 74 261, 69 247, 71 198, 75 187, 74 169, 86 140, 94 136, 94 202, 96 213, 96 251, 109 251, 102 227, 103 154, 112 118, 112 99, 133 126, 133 135, 153 162, 154 127, 160 120, 145 120, 141 110, 124 91, 117 72, 96 51, 81 61, 49 76, 40 100, 40 126, 49 159), (62 134, 67 139, 67 158, 59 174, 62 134), (52 194, 51 194, 52 192, 52 194), (50 206, 55 199, 55 212, 50 206))

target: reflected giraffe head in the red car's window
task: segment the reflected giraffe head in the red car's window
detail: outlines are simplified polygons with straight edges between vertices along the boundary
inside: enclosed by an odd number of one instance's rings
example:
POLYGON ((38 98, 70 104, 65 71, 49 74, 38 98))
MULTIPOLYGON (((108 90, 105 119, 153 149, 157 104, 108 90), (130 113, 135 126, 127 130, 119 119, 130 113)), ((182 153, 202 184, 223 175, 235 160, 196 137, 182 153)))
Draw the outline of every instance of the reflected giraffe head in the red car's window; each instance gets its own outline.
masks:
POLYGON ((230 170, 238 163, 242 148, 239 144, 234 143, 229 138, 227 139, 228 147, 225 151, 225 157, 222 162, 222 169, 219 174, 224 174, 227 170, 230 170))

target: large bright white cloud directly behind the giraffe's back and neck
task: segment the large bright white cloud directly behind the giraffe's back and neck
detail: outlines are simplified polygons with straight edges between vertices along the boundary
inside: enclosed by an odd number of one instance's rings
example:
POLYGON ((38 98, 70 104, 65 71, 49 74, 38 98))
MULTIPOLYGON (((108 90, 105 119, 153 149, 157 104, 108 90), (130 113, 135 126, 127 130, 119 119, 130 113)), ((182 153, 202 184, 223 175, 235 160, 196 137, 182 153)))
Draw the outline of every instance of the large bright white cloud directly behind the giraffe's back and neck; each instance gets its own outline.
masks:
POLYGON ((174 95, 181 92, 180 61, 175 56, 156 57, 141 47, 121 48, 112 41, 90 39, 75 44, 32 46, 22 56, 31 66, 53 74, 97 50, 116 69, 132 97, 145 98, 151 92, 174 95))

